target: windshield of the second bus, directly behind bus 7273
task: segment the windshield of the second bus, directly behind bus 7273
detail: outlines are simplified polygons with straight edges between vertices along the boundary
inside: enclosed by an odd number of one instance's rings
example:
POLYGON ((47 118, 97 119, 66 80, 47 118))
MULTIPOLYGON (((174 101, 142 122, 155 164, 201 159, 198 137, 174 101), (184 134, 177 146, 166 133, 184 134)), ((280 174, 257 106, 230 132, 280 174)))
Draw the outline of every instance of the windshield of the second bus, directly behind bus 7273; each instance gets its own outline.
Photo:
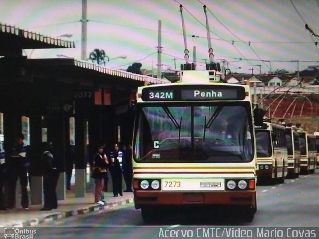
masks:
POLYGON ((270 132, 267 130, 255 131, 257 157, 270 157, 272 155, 270 132))

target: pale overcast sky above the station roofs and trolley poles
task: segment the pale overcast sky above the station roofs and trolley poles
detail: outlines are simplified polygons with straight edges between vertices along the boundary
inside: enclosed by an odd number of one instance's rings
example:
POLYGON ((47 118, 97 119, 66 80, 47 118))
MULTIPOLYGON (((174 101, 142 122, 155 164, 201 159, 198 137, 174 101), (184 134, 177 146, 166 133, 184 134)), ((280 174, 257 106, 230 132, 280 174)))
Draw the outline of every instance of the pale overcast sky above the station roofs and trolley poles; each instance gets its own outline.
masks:
MULTIPOLYGON (((109 67, 126 69, 141 62, 142 68, 156 69, 161 20, 163 68, 174 68, 176 62, 179 69, 185 63, 180 4, 190 62, 195 46, 199 69, 208 60, 203 4, 214 60, 227 61, 232 72, 251 73, 253 68, 259 73, 258 65, 262 73, 319 65, 319 0, 87 0, 88 54, 103 49, 109 67)), ((31 58, 59 54, 80 59, 81 14, 82 0, 0 0, 1 23, 52 37, 72 34, 63 39, 74 41, 75 49, 26 50, 31 58)))

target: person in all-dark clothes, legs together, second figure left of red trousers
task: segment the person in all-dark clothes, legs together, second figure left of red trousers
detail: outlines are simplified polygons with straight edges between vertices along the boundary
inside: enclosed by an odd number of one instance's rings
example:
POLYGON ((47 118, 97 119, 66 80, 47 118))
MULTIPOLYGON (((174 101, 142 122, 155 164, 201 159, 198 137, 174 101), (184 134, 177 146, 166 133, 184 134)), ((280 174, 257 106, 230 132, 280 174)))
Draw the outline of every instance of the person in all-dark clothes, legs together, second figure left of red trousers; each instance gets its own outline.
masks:
POLYGON ((59 178, 57 162, 52 154, 53 144, 42 143, 43 194, 44 206, 41 211, 49 211, 58 207, 56 185, 59 178))

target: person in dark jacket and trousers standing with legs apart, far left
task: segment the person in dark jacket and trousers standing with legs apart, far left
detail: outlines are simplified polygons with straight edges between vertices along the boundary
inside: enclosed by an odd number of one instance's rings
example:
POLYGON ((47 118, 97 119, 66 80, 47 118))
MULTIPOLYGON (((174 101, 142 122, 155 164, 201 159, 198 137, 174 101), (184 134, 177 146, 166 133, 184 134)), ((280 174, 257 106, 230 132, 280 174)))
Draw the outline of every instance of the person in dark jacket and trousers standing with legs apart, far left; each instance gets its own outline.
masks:
POLYGON ((15 207, 15 194, 16 194, 16 182, 20 179, 21 185, 21 206, 24 209, 29 209, 29 198, 28 198, 28 167, 30 162, 27 158, 28 147, 24 145, 24 135, 18 134, 16 142, 13 145, 11 156, 8 162, 8 208, 12 209, 15 207))

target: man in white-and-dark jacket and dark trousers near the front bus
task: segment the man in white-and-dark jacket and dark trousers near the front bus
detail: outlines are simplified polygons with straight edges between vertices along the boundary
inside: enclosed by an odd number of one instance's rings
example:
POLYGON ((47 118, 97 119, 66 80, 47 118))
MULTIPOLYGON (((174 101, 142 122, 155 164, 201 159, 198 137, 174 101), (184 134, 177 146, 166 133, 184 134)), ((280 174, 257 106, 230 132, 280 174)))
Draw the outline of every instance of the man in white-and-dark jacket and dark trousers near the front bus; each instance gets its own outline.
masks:
POLYGON ((122 193, 122 160, 123 152, 119 150, 118 144, 114 144, 113 151, 110 153, 110 171, 112 177, 113 197, 117 197, 122 193))

